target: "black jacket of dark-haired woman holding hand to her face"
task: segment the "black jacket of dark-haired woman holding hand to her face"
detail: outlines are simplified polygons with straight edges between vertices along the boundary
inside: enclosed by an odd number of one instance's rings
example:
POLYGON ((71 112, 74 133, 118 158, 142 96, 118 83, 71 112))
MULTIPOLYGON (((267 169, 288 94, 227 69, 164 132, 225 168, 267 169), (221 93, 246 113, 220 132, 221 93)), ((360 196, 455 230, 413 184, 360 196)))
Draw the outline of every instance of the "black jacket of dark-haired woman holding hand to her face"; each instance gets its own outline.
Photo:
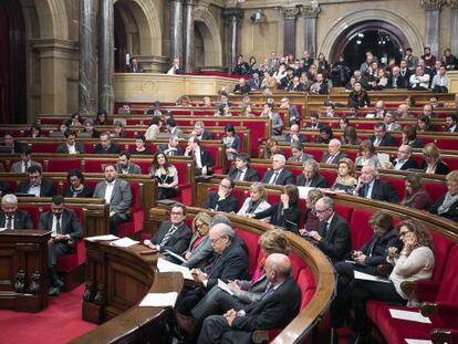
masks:
POLYGON ((301 209, 299 209, 298 205, 290 205, 290 207, 283 211, 283 204, 278 202, 254 215, 254 219, 263 219, 267 217, 270 217, 270 223, 283 227, 289 231, 299 234, 298 223, 301 217, 301 209))

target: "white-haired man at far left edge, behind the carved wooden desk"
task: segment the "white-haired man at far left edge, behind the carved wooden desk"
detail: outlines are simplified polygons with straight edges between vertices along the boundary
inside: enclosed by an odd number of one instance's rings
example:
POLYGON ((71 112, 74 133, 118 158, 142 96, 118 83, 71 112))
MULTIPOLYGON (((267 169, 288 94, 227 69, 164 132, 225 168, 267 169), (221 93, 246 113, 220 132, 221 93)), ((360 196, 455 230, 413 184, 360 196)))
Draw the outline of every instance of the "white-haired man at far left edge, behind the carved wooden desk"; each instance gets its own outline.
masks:
POLYGON ((30 213, 18 209, 18 198, 12 194, 1 198, 0 228, 33 229, 30 213))

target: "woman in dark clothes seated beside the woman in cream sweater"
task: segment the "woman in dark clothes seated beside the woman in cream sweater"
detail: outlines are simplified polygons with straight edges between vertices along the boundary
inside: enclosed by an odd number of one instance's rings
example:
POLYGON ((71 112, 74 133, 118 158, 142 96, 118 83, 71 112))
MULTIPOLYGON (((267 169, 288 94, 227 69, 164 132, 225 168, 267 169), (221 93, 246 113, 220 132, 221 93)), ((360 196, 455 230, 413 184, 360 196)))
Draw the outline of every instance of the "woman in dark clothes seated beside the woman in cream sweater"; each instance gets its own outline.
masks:
POLYGON ((332 303, 332 325, 341 327, 351 306, 350 296, 355 286, 354 272, 376 274, 378 264, 386 261, 388 248, 402 247, 398 233, 393 226, 393 217, 385 211, 375 212, 368 220, 374 231, 372 239, 358 251, 353 251, 350 261, 334 264, 337 273, 337 298, 332 303))

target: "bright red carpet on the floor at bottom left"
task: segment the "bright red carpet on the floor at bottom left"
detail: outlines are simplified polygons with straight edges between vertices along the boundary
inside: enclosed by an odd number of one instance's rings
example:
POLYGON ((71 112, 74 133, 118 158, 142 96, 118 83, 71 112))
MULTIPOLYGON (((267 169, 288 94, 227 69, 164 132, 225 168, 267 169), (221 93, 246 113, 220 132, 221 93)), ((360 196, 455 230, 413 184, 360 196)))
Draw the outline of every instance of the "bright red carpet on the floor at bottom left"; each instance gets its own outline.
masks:
POLYGON ((83 292, 84 284, 50 298, 48 309, 39 313, 0 311, 0 343, 66 343, 96 327, 81 320, 83 292))

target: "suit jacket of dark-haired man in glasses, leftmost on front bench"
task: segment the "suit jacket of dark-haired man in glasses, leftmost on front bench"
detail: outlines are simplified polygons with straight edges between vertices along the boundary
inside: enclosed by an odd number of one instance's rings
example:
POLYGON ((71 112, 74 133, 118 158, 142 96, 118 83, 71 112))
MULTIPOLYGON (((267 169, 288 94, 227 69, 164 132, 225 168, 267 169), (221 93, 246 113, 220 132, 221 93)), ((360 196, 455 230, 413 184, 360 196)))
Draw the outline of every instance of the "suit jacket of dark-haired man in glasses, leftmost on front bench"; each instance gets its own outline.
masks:
MULTIPOLYGON (((162 222, 159 226, 159 229, 154 234, 152 242, 154 244, 160 244, 160 242, 163 241, 164 237, 167 234, 170 227, 171 227, 170 221, 162 222)), ((192 232, 189 229, 189 227, 186 226, 185 222, 181 222, 181 225, 174 232, 174 234, 167 240, 167 242, 160 246, 160 252, 164 252, 165 250, 169 250, 180 256, 188 248, 191 237, 192 237, 192 232)))

